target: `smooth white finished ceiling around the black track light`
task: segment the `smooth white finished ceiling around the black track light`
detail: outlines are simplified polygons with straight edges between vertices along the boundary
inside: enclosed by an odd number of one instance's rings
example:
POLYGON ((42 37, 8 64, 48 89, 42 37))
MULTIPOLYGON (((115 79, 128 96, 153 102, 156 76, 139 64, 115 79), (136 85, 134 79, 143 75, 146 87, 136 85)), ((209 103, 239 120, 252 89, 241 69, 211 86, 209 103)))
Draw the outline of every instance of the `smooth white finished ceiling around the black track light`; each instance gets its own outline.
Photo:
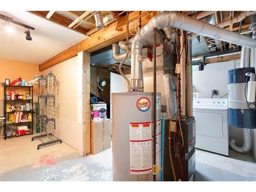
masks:
POLYGON ((35 28, 30 30, 32 41, 26 40, 25 28, 9 23, 12 33, 4 30, 0 19, 0 58, 39 65, 58 53, 87 38, 86 35, 60 26, 26 11, 0 11, 16 22, 35 28))

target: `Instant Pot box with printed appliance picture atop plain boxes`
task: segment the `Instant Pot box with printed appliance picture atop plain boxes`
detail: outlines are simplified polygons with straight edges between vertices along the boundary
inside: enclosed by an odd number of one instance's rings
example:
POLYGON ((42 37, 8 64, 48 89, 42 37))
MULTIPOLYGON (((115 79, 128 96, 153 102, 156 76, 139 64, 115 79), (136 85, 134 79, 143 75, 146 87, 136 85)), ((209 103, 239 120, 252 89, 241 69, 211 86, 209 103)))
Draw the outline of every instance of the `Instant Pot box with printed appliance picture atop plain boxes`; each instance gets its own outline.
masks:
POLYGON ((106 103, 91 104, 91 121, 103 121, 106 119, 106 103))

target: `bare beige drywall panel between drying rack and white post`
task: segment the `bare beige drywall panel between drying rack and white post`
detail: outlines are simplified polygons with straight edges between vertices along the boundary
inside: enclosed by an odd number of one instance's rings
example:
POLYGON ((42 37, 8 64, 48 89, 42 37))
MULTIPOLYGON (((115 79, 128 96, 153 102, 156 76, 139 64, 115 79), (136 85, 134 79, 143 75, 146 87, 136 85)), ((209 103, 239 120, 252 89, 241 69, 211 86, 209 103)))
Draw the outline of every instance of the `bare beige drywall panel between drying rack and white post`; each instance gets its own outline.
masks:
POLYGON ((50 71, 56 76, 55 136, 77 150, 80 129, 77 122, 77 56, 42 71, 42 74, 50 71))

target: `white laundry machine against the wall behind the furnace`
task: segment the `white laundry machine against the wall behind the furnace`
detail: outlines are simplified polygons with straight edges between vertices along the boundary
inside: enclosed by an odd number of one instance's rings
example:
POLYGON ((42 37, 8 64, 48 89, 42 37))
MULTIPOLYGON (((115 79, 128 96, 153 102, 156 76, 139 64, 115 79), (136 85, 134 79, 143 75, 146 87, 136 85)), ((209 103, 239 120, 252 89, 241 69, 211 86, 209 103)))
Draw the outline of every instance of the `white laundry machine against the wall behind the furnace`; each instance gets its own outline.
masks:
POLYGON ((228 101, 223 98, 193 100, 196 148, 228 156, 228 101))

